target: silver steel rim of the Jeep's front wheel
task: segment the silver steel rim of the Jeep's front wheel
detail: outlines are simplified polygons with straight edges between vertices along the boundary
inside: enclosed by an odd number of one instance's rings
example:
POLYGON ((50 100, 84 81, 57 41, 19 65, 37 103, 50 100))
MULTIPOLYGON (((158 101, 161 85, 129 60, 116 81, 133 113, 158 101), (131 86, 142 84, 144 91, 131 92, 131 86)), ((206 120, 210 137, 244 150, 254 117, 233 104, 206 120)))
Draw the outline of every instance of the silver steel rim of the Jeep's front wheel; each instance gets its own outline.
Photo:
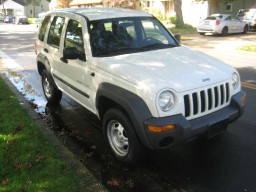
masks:
POLYGON ((122 124, 116 120, 111 120, 107 126, 107 136, 114 152, 119 156, 126 156, 129 150, 129 142, 122 124))

